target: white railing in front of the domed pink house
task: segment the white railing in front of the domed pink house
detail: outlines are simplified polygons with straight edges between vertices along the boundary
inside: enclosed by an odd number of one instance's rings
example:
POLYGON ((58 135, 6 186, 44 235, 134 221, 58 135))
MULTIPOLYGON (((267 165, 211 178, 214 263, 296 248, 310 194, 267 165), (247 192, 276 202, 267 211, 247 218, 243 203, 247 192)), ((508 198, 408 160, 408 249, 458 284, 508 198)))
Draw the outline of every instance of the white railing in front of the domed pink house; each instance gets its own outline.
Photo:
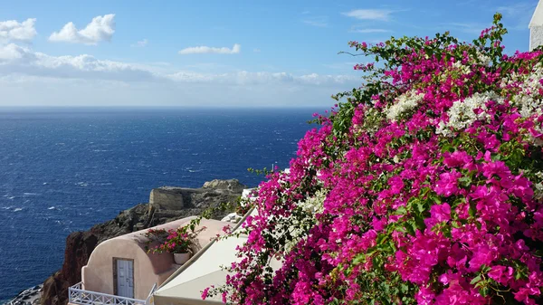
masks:
POLYGON ((81 287, 81 281, 71 286, 68 291, 68 301, 79 305, 148 305, 148 300, 119 297, 96 291, 85 291, 81 287))

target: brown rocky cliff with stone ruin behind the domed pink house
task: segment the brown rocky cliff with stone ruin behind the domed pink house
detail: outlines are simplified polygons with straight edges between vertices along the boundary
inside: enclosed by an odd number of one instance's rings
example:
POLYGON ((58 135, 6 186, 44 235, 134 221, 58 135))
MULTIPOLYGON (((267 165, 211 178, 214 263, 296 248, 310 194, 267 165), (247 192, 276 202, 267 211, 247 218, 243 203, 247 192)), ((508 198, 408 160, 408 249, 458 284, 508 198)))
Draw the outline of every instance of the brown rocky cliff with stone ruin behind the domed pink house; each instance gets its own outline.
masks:
MULTIPOLYGON (((179 218, 199 215, 209 207, 234 203, 242 195, 238 180, 214 180, 201 188, 164 186, 153 189, 148 204, 136 205, 121 212, 115 219, 97 224, 85 232, 74 232, 66 238, 62 270, 43 283, 42 305, 65 305, 68 288, 81 281, 81 267, 89 261, 96 246, 110 238, 165 224, 179 218)), ((214 214, 221 219, 224 214, 214 214)))

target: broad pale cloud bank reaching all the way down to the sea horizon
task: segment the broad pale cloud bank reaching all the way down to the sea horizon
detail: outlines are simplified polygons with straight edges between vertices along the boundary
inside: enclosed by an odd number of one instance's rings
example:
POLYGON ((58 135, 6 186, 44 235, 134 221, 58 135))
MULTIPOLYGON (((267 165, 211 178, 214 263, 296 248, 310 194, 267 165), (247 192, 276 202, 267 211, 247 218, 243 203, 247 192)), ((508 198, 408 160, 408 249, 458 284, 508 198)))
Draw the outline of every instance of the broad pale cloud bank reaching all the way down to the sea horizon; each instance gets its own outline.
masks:
POLYGON ((14 43, 0 45, 0 106, 312 106, 360 84, 357 75, 207 71, 164 62, 52 56, 14 43))

